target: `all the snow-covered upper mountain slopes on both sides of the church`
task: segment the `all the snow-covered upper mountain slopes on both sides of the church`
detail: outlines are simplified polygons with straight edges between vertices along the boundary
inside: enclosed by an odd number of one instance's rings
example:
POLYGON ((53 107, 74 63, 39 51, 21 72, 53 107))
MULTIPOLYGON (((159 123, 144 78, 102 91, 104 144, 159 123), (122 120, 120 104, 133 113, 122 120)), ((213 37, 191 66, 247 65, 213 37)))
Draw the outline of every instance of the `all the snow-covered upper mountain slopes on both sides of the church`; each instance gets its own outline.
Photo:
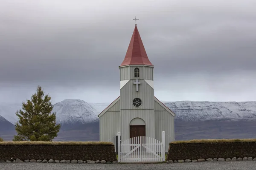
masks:
MULTIPOLYGON (((57 122, 90 123, 98 120, 98 114, 110 103, 87 103, 80 99, 65 99, 54 105, 57 122)), ((256 102, 207 102, 177 101, 164 102, 175 114, 176 120, 204 121, 216 119, 252 120, 256 119, 256 102)), ((9 122, 17 122, 15 112, 21 104, 0 104, 0 116, 9 122)))

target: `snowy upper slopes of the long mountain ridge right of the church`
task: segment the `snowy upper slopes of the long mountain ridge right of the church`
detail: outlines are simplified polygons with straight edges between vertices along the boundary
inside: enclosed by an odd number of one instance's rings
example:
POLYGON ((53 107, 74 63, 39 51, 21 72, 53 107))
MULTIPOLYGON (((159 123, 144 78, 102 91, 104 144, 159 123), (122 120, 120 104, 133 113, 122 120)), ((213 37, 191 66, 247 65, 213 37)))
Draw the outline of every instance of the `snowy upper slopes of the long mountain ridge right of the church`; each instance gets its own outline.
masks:
POLYGON ((179 101, 164 104, 176 114, 176 120, 256 119, 256 102, 179 101))

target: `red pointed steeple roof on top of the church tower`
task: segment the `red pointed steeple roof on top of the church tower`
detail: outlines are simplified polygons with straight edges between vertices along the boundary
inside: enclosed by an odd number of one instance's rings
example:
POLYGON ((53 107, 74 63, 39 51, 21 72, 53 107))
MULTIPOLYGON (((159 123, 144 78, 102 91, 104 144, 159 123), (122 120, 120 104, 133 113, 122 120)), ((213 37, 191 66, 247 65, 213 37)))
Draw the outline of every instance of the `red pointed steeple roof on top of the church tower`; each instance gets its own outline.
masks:
POLYGON ((136 25, 125 55, 125 59, 120 66, 124 65, 152 65, 148 59, 136 25))

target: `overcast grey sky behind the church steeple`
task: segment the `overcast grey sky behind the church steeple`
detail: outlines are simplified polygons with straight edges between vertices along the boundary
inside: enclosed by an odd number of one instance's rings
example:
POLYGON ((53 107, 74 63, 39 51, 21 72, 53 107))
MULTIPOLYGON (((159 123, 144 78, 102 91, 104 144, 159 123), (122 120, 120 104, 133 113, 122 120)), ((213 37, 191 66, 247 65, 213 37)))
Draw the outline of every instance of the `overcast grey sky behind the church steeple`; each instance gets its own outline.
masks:
POLYGON ((134 17, 161 101, 256 101, 255 0, 0 0, 0 102, 112 102, 134 17))

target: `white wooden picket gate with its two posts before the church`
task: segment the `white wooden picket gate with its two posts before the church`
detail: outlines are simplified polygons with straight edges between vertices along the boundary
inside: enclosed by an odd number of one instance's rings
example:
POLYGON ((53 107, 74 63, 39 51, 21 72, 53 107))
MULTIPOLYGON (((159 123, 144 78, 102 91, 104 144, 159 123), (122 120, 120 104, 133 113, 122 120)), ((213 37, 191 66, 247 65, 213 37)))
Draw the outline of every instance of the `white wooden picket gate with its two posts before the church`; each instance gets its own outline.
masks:
POLYGON ((162 162, 165 161, 165 132, 162 132, 162 141, 148 137, 137 136, 121 143, 120 132, 118 136, 119 162, 162 162))

